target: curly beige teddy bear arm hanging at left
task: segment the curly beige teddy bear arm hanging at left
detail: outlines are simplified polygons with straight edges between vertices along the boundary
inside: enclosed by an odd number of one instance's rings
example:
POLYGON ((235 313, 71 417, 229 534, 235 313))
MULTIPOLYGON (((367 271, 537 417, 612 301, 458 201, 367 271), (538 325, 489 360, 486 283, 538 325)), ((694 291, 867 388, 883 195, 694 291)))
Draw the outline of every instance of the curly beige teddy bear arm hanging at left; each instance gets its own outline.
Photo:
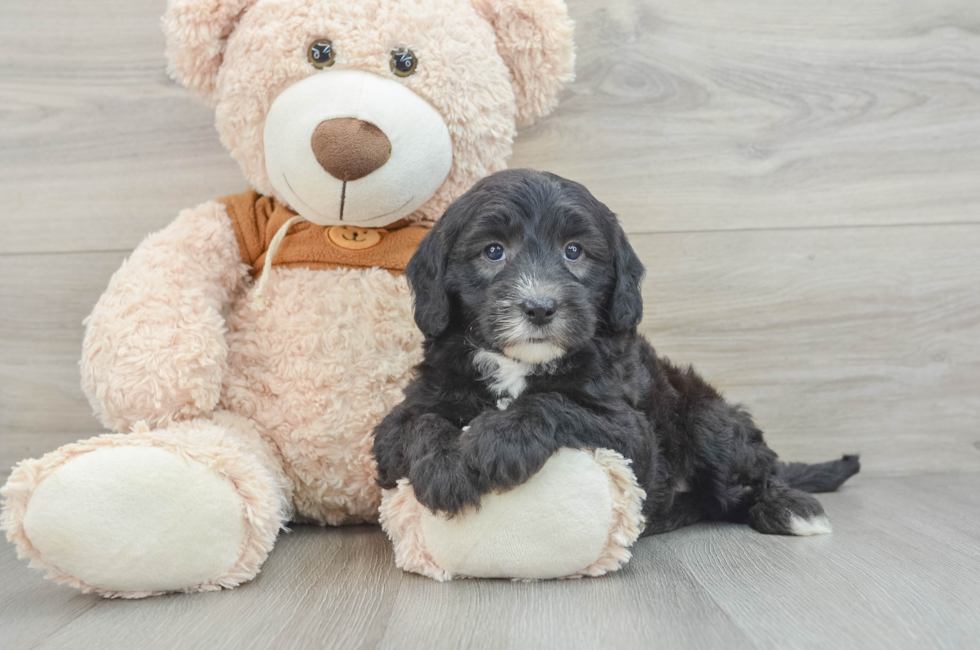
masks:
POLYGON ((116 271, 86 319, 82 387, 116 431, 167 426, 218 402, 222 315, 247 277, 225 207, 184 210, 116 271))

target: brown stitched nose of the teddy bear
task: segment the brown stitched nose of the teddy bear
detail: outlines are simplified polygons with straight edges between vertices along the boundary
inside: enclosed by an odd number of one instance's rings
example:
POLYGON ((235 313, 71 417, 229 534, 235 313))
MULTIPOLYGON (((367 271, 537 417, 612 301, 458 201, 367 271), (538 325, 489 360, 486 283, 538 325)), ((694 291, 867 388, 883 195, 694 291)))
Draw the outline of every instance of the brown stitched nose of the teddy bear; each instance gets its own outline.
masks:
POLYGON ((341 181, 364 178, 391 157, 388 136, 370 122, 354 117, 320 122, 310 146, 320 166, 341 181))

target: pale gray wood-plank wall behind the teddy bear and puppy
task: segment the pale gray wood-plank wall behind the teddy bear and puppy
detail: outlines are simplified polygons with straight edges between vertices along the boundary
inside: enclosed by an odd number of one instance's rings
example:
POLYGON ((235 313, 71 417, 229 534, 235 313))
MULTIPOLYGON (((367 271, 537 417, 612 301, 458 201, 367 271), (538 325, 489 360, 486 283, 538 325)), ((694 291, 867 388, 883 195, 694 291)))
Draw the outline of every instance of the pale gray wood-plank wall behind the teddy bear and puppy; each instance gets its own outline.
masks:
MULTIPOLYGON (((82 319, 143 236, 245 187, 164 73, 164 5, 0 3, 0 466, 101 431, 82 319)), ((658 349, 787 458, 980 471, 980 3, 569 7, 578 79, 512 163, 620 214, 658 349)))

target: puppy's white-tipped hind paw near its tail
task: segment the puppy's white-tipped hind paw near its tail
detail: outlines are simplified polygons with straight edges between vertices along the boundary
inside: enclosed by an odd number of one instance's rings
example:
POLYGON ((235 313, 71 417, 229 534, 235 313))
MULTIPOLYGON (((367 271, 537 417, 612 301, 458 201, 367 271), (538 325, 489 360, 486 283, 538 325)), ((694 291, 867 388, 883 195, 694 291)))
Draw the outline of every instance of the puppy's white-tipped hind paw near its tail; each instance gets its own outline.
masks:
POLYGON ((748 512, 748 523, 767 535, 826 535, 830 521, 814 497, 786 485, 770 484, 748 512))

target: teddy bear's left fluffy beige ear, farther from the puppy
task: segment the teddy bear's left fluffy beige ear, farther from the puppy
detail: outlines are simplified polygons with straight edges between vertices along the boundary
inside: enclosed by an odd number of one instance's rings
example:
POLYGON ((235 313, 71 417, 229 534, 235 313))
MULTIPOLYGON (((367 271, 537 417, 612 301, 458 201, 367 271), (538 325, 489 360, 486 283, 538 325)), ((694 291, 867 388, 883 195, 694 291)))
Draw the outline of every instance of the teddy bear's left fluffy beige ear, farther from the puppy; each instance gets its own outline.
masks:
POLYGON ((225 42, 255 0, 168 0, 163 17, 167 73, 209 102, 225 42))

